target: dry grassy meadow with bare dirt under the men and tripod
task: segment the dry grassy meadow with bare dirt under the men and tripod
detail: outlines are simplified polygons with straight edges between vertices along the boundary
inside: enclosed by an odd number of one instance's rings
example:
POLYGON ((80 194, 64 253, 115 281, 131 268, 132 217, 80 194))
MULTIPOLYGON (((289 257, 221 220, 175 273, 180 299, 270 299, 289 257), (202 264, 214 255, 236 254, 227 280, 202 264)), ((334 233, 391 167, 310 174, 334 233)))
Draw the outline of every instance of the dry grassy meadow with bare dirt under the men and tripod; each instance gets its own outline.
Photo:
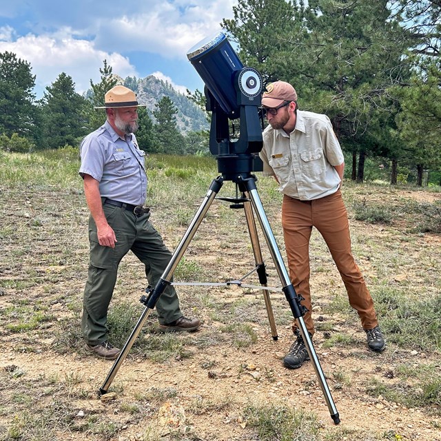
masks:
MULTIPOLYGON (((218 172, 212 157, 147 157, 150 220, 173 250, 218 172)), ((81 302, 88 208, 78 151, 0 151, 0 440, 441 441, 441 188, 345 181, 353 254, 387 338, 371 353, 317 232, 311 239, 314 347, 340 413, 334 425, 311 363, 281 358, 291 311, 271 292, 271 338, 258 287, 178 285, 183 311, 203 327, 161 334, 155 311, 117 373, 85 351, 81 302)), ((257 187, 285 258, 281 196, 257 187)), ((219 196, 236 195, 226 182, 219 196)), ((260 234, 260 229, 258 228, 260 234)), ((261 235, 260 235, 261 236, 261 235)), ((263 236, 268 285, 279 287, 263 236)), ((254 269, 243 210, 216 199, 175 274, 176 283, 225 283, 254 269)), ((258 285, 251 273, 245 280, 258 285)), ((119 269, 110 335, 125 344, 143 311, 141 263, 119 269)))

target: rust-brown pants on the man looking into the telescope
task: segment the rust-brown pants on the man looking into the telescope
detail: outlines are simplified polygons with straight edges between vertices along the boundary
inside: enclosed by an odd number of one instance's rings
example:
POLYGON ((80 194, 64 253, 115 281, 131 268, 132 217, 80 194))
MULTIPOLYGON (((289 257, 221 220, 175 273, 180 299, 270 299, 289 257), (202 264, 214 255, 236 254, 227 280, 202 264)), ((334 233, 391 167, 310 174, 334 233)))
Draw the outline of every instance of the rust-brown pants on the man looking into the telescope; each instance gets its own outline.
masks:
MULTIPOLYGON (((345 283, 349 303, 358 312, 363 329, 376 327, 378 321, 371 294, 352 256, 347 212, 340 190, 313 201, 299 201, 285 195, 282 204, 282 226, 289 277, 296 292, 305 298, 301 303, 308 309, 303 316, 308 331, 314 334, 309 288, 309 238, 312 227, 316 227, 325 239, 345 283)), ((293 331, 296 331, 296 327, 294 322, 293 331)))

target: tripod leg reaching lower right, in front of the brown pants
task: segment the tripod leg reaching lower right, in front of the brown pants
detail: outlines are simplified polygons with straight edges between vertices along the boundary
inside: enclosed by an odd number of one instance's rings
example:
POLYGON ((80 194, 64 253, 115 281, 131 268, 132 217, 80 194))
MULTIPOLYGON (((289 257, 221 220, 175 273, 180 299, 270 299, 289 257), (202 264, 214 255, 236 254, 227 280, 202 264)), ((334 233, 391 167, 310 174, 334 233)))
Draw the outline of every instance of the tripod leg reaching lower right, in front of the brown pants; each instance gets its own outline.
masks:
POLYGON ((318 382, 320 383, 320 388, 322 389, 322 393, 325 396, 329 413, 331 413, 331 418, 332 420, 334 420, 334 424, 338 424, 340 422, 340 417, 338 416, 338 411, 336 409, 336 405, 334 404, 334 400, 332 399, 331 392, 329 391, 325 374, 322 371, 322 367, 320 366, 320 362, 318 361, 316 350, 312 345, 311 337, 309 336, 305 321, 303 320, 302 313, 300 312, 300 299, 298 298, 296 290, 291 284, 287 269, 285 267, 285 264, 283 263, 283 258, 278 249, 276 239, 274 238, 274 234, 271 230, 271 226, 269 225, 267 215, 265 214, 265 210, 263 209, 263 205, 258 196, 256 188, 256 178, 253 177, 244 179, 243 185, 247 188, 249 199, 252 202, 254 212, 256 212, 260 227, 262 228, 265 240, 267 241, 269 252, 271 253, 272 259, 274 260, 274 265, 276 265, 278 276, 283 283, 283 292, 285 293, 285 297, 288 300, 289 307, 291 307, 293 316, 296 319, 300 334, 302 335, 303 341, 305 342, 305 346, 309 353, 309 358, 311 358, 312 365, 314 366, 314 370, 316 371, 318 382))

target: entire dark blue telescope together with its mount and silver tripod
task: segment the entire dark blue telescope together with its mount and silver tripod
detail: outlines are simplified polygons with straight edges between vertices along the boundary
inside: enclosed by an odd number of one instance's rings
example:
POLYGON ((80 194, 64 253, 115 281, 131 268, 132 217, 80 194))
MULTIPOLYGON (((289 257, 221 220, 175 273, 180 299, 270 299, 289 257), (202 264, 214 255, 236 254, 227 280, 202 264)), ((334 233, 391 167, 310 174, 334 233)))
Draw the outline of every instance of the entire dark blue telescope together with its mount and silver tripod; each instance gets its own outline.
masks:
MULTIPOLYGON (((334 420, 334 424, 339 424, 340 417, 338 411, 302 317, 305 312, 305 308, 300 303, 302 297, 296 293, 296 290, 291 284, 288 271, 283 263, 283 257, 280 254, 276 239, 274 238, 274 234, 265 214, 265 209, 263 209, 263 205, 258 196, 256 176, 252 174, 252 172, 261 171, 263 165, 258 157, 258 152, 260 152, 263 147, 262 130, 258 112, 260 92, 262 90, 262 78, 255 69, 243 66, 236 52, 234 52, 232 46, 229 44, 227 37, 225 37, 225 34, 222 32, 218 32, 213 37, 204 39, 194 45, 187 53, 187 57, 205 83, 206 107, 209 112, 212 112, 209 150, 210 153, 216 155, 218 172, 221 173, 221 176, 214 178, 212 181, 203 202, 189 223, 187 231, 176 247, 160 280, 158 280, 154 288, 147 287, 145 290, 147 296, 141 297, 140 301, 145 305, 145 309, 99 391, 101 394, 107 393, 116 372, 130 351, 134 340, 139 336, 145 320, 147 320, 150 312, 154 309, 158 298, 165 288, 172 284, 180 285, 172 281, 174 271, 194 237, 194 234, 196 234, 199 225, 201 225, 203 218, 205 218, 210 205, 212 205, 218 192, 220 192, 224 181, 232 181, 236 184, 236 197, 218 199, 232 202, 232 205, 230 205, 231 208, 244 209, 256 267, 239 280, 230 280, 225 284, 194 283, 193 285, 237 285, 262 289, 271 334, 274 340, 278 339, 269 297, 269 287, 267 287, 265 263, 263 262, 256 222, 254 220, 254 214, 256 214, 263 236, 265 236, 269 253, 274 262, 274 267, 283 285, 283 287, 278 290, 283 291, 285 294, 285 298, 296 320, 309 358, 316 371, 316 376, 320 383, 320 388, 322 389, 331 418, 334 420), (240 119, 240 133, 238 139, 233 140, 229 136, 229 121, 238 118, 240 119), (241 192, 241 197, 237 195, 238 190, 241 192), (243 285, 243 279, 254 271, 258 275, 260 287, 243 285)), ((189 284, 186 283, 185 285, 189 284)))

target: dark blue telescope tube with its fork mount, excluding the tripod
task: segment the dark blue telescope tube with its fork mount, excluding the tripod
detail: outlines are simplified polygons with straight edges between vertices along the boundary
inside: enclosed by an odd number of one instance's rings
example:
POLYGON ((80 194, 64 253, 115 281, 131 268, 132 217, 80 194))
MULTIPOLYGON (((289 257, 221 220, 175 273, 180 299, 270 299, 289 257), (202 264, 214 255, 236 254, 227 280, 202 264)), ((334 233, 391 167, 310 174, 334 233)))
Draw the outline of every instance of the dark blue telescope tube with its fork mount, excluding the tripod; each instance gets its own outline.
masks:
POLYGON ((258 114, 262 77, 245 68, 223 32, 196 43, 187 58, 205 83, 206 109, 212 112, 209 151, 227 180, 261 172, 262 127, 258 114), (240 119, 239 137, 229 136, 229 120, 240 119))

